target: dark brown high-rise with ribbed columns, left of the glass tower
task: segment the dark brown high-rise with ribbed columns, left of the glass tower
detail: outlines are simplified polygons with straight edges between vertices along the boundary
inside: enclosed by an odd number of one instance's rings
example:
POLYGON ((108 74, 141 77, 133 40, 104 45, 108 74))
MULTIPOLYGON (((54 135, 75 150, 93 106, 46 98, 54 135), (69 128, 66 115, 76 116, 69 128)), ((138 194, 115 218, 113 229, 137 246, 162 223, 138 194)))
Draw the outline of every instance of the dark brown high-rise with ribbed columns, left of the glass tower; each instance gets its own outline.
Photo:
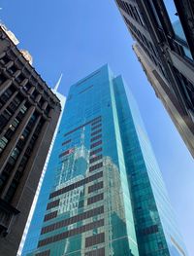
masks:
MULTIPOLYGON (((12 35, 12 36, 10 36, 12 35)), ((0 27, 0 255, 16 256, 61 106, 0 27)))

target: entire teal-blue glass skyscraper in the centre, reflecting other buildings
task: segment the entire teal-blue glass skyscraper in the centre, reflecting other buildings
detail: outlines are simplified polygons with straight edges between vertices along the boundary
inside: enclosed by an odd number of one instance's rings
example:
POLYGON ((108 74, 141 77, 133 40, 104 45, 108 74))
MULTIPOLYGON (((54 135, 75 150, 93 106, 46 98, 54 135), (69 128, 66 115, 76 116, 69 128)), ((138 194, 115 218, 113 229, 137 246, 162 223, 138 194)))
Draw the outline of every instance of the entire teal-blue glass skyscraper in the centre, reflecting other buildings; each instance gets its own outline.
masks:
POLYGON ((125 90, 108 65, 71 87, 22 255, 186 256, 125 90))

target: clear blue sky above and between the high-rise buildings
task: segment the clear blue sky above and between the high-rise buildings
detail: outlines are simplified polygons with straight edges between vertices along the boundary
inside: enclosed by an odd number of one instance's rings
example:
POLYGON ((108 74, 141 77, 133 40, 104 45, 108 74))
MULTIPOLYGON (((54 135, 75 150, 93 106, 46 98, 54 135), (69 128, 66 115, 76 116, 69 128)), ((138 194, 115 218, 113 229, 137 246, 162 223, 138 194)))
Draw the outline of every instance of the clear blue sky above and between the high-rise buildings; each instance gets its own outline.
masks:
POLYGON ((1 0, 0 18, 50 87, 59 91, 109 63, 122 74, 139 104, 146 130, 178 216, 179 230, 194 255, 194 164, 132 51, 133 40, 113 0, 1 0))

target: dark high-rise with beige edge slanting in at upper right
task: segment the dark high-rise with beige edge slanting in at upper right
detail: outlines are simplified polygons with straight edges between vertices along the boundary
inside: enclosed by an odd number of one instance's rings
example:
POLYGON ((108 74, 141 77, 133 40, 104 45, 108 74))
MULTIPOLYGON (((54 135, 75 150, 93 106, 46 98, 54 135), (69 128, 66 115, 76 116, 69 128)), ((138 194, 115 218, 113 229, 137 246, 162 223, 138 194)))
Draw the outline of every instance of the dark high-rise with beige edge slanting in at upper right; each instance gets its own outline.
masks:
POLYGON ((115 2, 147 79, 194 157, 193 1, 115 2))

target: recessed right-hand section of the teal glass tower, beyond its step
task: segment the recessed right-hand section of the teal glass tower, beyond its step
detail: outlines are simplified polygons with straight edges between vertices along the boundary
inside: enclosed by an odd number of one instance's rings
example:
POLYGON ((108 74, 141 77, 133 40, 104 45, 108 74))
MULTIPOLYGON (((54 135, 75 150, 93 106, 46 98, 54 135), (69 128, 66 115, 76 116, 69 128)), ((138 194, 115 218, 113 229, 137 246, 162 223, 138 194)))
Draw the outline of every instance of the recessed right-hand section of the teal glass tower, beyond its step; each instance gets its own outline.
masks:
POLYGON ((114 83, 139 253, 187 255, 136 102, 121 77, 114 83))

